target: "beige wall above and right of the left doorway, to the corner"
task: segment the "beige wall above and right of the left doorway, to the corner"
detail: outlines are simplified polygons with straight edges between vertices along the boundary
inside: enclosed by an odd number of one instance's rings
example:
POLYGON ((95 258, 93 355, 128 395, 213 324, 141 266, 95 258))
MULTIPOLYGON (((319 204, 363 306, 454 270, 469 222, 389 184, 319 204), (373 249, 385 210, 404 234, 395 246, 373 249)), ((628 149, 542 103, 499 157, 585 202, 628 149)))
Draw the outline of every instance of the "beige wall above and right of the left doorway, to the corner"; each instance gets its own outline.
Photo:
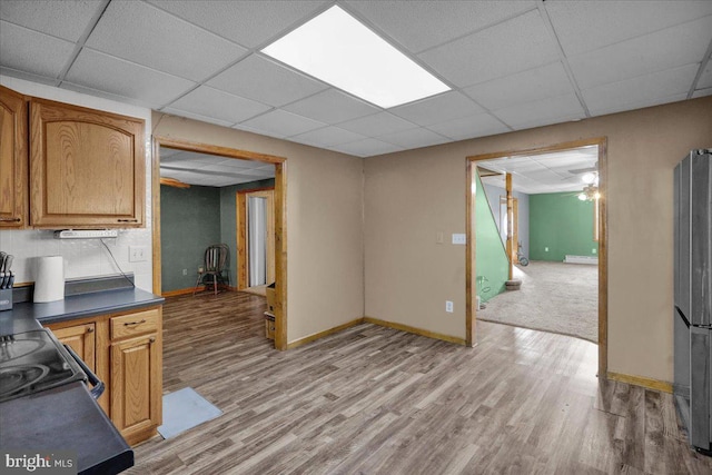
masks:
POLYGON ((287 340, 364 316, 363 159, 174 116, 154 135, 287 158, 287 340))

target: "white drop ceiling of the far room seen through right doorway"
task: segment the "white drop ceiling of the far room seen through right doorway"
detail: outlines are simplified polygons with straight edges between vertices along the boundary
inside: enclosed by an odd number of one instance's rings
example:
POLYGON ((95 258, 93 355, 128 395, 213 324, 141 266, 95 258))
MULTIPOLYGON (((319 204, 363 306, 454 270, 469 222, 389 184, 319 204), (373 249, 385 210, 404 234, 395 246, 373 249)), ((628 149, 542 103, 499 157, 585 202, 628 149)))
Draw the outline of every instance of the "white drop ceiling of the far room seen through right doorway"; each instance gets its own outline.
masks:
POLYGON ((477 167, 498 175, 482 172, 482 182, 505 187, 505 174, 512 175, 512 189, 527 195, 582 191, 587 171, 597 172, 599 147, 516 156, 477 161, 477 167))

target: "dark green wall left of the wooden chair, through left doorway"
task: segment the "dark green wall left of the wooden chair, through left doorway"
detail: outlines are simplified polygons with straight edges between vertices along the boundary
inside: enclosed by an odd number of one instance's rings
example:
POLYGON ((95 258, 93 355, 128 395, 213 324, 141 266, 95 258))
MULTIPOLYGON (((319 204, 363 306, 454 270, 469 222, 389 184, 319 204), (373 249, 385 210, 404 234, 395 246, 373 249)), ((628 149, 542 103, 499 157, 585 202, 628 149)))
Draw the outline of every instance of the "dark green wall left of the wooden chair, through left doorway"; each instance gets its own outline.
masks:
POLYGON ((162 291, 196 285, 205 249, 220 241, 220 190, 160 187, 162 291), (182 269, 187 275, 182 275, 182 269))

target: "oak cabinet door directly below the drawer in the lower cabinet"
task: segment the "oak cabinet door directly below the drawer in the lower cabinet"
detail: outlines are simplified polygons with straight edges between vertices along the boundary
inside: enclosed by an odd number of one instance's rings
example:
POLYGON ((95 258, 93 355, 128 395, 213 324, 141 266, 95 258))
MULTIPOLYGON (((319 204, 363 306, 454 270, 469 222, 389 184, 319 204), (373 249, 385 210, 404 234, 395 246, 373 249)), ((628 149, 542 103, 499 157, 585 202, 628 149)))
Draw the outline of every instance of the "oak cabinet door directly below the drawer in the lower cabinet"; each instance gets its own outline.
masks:
POLYGON ((129 444, 160 425, 161 386, 158 334, 111 344, 111 420, 129 444))

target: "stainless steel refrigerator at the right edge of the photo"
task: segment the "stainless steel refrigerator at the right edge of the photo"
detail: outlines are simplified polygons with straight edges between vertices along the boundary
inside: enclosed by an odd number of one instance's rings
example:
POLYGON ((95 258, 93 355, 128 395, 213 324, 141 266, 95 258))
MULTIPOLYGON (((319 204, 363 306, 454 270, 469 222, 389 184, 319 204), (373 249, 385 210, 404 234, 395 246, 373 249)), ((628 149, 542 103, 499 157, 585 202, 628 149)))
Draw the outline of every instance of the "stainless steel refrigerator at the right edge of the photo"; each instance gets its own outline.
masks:
POLYGON ((674 172, 674 395, 690 444, 712 449, 712 149, 674 172))

